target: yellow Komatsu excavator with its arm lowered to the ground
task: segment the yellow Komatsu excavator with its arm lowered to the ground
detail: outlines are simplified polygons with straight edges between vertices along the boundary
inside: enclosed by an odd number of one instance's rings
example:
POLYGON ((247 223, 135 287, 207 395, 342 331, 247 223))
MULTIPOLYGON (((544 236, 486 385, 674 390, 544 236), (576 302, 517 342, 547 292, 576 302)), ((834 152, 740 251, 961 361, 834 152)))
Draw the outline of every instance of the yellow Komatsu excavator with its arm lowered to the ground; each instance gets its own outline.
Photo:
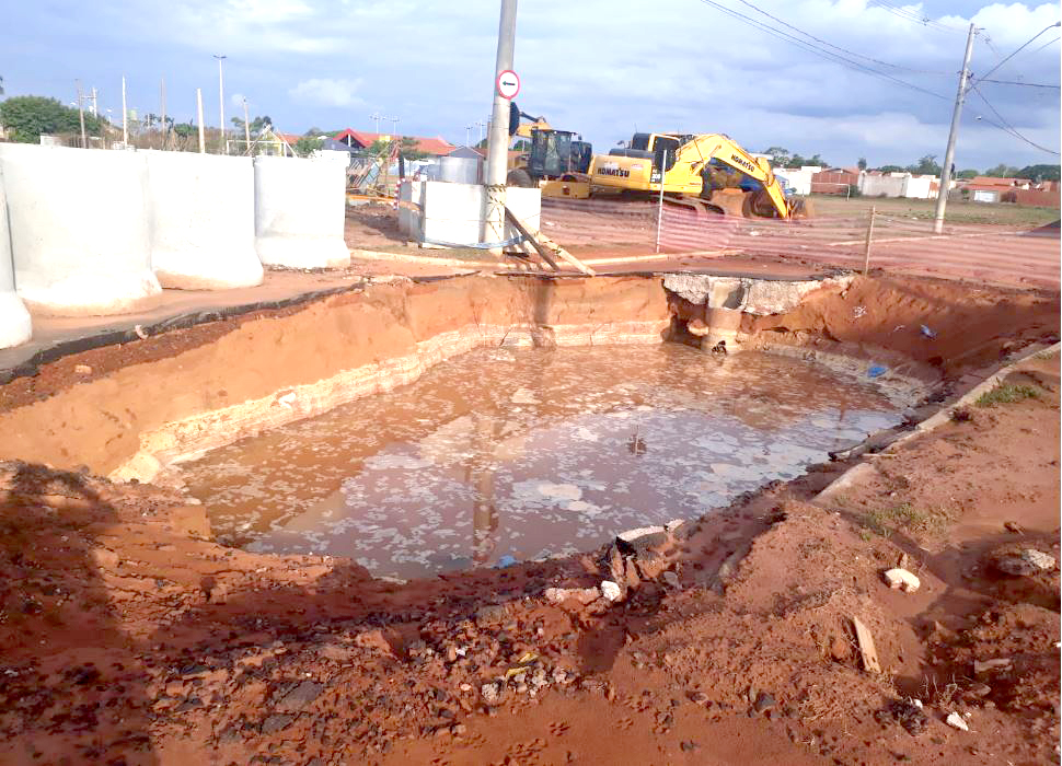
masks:
POLYGON ((631 146, 595 155, 595 193, 660 193, 671 201, 746 218, 806 218, 803 199, 785 196, 763 158, 722 134, 635 134, 631 146))

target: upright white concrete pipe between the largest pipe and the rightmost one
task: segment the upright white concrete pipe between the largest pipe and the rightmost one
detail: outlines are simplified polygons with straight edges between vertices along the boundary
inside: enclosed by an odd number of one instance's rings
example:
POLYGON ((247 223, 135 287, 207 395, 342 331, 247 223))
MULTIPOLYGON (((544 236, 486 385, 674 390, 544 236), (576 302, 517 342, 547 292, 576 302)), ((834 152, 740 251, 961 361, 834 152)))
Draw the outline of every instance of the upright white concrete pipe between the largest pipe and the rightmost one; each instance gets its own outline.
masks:
POLYGON ((261 285, 251 158, 159 151, 145 158, 151 266, 162 287, 261 285))

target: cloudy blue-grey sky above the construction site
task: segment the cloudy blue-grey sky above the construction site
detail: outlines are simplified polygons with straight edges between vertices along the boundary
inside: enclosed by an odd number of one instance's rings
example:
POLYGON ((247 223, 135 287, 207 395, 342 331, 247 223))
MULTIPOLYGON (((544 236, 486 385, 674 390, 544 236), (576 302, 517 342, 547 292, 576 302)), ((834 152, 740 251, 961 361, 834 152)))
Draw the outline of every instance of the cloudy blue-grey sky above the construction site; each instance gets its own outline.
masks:
MULTIPOLYGON (((164 77, 171 115, 191 119, 200 86, 206 121, 216 125, 211 56, 224 54, 227 116, 242 112, 243 97, 252 115, 267 114, 290 132, 371 130, 370 115, 379 113, 397 117, 399 132, 463 143, 465 126, 489 114, 498 10, 498 0, 8 3, 0 76, 9 96, 67 103, 79 78, 99 89, 101 109, 115 115, 122 74, 130 107, 141 113, 159 111, 164 77)), ((522 0, 517 102, 602 151, 637 128, 726 132, 753 151, 783 146, 834 164, 858 156, 871 166, 907 164, 944 154, 971 21, 982 28, 971 65, 977 76, 1059 19, 1058 3, 522 0), (826 60, 718 7, 849 62, 826 60)), ((1059 30, 1049 30, 991 79, 1058 85, 1058 38, 1059 30)), ((1005 120, 1057 152, 1059 90, 981 83, 979 92, 998 114, 971 93, 960 169, 1059 161, 985 123, 1005 120)))

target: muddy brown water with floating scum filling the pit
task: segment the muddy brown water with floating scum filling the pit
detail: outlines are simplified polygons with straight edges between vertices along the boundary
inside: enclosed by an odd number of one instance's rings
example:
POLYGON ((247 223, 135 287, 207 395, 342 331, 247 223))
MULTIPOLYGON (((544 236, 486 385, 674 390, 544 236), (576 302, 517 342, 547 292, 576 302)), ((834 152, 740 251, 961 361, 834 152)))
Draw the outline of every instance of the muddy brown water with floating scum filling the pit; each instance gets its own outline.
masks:
POLYGON ((488 349, 183 468, 220 539, 411 578, 693 519, 899 420, 869 384, 787 357, 488 349))

